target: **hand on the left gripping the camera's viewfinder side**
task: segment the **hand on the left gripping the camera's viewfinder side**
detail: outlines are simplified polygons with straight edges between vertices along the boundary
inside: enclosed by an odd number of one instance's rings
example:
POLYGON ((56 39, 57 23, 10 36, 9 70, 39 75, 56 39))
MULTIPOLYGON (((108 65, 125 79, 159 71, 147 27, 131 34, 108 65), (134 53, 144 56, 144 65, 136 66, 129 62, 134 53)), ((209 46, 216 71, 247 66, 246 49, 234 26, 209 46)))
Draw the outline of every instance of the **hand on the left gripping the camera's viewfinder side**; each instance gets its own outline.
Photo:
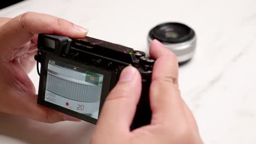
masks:
POLYGON ((37 105, 37 94, 27 74, 36 63, 39 33, 83 38, 88 31, 46 14, 28 12, 13 19, 0 17, 0 112, 47 123, 80 121, 37 105))

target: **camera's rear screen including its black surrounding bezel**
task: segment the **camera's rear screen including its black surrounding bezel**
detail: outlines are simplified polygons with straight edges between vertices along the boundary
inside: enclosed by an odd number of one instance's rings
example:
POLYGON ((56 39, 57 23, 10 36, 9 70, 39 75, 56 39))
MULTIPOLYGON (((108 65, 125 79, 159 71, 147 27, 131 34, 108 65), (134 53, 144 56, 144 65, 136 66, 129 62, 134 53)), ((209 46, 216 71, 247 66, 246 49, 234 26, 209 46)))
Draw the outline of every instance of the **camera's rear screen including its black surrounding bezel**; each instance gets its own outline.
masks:
POLYGON ((117 73, 41 53, 38 104, 96 123, 117 73))

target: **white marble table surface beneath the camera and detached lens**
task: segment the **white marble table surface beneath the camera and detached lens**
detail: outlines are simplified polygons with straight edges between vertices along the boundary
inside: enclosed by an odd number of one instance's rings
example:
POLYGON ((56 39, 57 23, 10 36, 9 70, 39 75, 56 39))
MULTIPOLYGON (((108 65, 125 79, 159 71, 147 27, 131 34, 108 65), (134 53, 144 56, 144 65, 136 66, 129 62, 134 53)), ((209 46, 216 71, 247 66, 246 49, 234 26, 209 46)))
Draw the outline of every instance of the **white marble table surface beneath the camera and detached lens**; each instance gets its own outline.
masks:
MULTIPOLYGON (((196 31, 192 61, 179 68, 184 100, 205 143, 256 143, 256 1, 27 0, 0 10, 51 14, 90 30, 89 36, 148 52, 147 34, 178 21, 196 31)), ((36 69, 30 74, 36 89, 36 69)), ((95 125, 45 124, 0 114, 0 143, 89 143, 95 125)))

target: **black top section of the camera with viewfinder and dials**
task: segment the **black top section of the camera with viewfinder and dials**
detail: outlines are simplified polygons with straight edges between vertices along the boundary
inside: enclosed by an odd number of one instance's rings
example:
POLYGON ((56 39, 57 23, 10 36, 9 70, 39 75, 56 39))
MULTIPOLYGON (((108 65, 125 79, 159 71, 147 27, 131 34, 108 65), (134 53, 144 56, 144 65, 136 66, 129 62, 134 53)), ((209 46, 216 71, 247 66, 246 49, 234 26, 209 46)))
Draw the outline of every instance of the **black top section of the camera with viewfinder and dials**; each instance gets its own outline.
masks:
POLYGON ((127 65, 133 65, 140 71, 152 71, 154 64, 154 59, 146 57, 142 51, 91 37, 71 39, 62 35, 39 34, 38 49, 74 61, 91 61, 93 65, 106 69, 108 68, 105 66, 114 64, 113 67, 117 67, 117 71, 127 65), (104 63, 106 61, 108 63, 104 63))

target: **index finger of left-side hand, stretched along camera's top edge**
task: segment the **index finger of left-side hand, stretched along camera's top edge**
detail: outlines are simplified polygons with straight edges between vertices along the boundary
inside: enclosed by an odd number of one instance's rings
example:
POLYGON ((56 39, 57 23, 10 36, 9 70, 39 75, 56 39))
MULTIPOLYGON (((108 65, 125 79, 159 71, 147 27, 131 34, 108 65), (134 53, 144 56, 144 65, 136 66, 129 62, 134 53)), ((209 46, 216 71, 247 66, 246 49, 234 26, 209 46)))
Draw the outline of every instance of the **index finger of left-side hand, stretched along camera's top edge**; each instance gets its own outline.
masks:
POLYGON ((25 45, 35 34, 59 34, 83 38, 88 30, 55 16, 28 12, 14 17, 0 27, 2 56, 11 55, 25 45))

